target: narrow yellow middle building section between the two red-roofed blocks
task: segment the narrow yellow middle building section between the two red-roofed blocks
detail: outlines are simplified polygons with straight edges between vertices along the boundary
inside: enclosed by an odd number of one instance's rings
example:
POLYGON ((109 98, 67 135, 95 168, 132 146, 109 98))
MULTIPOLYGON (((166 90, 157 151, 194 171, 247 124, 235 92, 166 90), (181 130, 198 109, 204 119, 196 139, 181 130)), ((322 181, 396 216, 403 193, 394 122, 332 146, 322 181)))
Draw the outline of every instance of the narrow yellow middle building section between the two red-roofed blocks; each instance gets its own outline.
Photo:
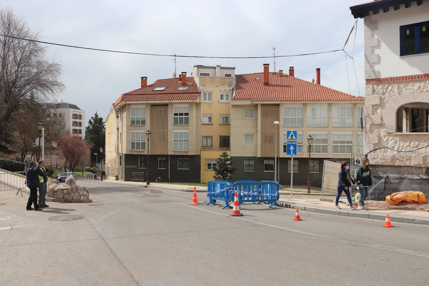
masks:
POLYGON ((216 158, 230 153, 230 102, 235 67, 194 66, 193 78, 201 90, 201 182, 213 180, 216 158))

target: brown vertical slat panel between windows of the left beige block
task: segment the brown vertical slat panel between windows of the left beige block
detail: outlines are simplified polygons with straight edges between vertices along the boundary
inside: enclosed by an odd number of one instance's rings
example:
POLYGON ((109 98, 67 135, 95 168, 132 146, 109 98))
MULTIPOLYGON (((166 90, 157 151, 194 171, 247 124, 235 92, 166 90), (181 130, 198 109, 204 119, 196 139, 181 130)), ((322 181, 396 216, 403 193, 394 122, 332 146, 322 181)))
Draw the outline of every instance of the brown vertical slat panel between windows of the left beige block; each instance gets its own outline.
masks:
POLYGON ((150 154, 168 154, 168 105, 151 105, 150 154))

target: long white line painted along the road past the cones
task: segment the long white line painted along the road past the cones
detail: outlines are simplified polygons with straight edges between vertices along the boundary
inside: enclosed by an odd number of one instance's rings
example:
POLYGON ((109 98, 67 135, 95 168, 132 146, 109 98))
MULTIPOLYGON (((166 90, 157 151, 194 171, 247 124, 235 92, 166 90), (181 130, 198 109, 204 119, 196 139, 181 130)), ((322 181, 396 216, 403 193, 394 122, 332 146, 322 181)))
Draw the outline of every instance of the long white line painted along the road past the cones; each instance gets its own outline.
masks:
MULTIPOLYGON (((194 207, 192 205, 185 205, 185 204, 181 204, 179 202, 175 202, 175 204, 184 205, 184 206, 187 206, 187 207, 190 207, 190 208, 197 208, 197 209, 202 210, 202 211, 208 211, 208 212, 211 212, 211 213, 214 213, 214 214, 221 214, 221 215, 223 215, 225 217, 230 217, 229 214, 222 214, 222 213, 218 213, 216 211, 205 210, 203 208, 194 207)), ((408 254, 413 254, 413 255, 423 256, 423 257, 428 257, 429 258, 429 253, 425 253, 425 252, 420 252, 420 251, 415 251, 415 250, 409 250, 409 249, 405 249, 405 248, 391 247, 391 246, 382 245, 382 244, 368 244, 368 243, 363 243, 363 242, 351 241, 351 240, 347 240, 347 239, 333 238, 333 237, 326 236, 326 235, 318 235, 316 233, 303 232, 303 231, 297 230, 297 229, 288 229, 286 227, 275 226, 275 225, 268 224, 268 223, 261 223, 261 222, 254 221, 254 220, 246 220, 246 219, 240 218, 240 217, 234 217, 234 219, 236 219, 236 220, 244 220, 244 221, 247 221, 247 222, 250 222, 250 223, 257 223, 257 224, 261 224, 263 226, 269 226, 269 227, 273 227, 273 228, 276 228, 276 229, 283 229, 283 230, 287 230, 287 231, 290 231, 290 232, 296 232, 296 233, 300 233, 302 235, 316 236, 316 237, 327 238, 327 239, 331 239, 331 240, 335 240, 335 241, 347 242, 347 243, 356 244, 356 245, 362 245, 362 246, 367 246, 367 247, 375 247, 375 248, 380 248, 380 249, 384 249, 384 250, 390 250, 390 251, 408 253, 408 254)))

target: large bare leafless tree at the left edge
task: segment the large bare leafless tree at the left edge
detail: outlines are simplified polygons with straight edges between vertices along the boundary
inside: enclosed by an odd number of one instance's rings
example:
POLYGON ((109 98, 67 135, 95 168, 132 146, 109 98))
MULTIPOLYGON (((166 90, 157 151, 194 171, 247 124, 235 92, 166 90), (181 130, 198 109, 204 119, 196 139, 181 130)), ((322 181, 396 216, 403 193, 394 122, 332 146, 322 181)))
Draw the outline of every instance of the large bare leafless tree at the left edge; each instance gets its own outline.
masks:
POLYGON ((37 106, 60 93, 61 66, 47 60, 46 48, 27 23, 11 9, 0 9, 0 138, 11 142, 14 122, 24 118, 24 106, 37 106))

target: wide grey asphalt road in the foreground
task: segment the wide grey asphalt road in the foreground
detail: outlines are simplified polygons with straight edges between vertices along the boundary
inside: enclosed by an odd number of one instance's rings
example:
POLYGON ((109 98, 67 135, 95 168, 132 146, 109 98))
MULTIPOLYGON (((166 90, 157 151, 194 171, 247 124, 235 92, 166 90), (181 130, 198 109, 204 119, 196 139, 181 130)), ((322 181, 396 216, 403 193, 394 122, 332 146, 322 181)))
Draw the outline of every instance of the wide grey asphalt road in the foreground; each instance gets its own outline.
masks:
POLYGON ((230 217, 192 193, 78 185, 98 202, 36 212, 1 194, 0 285, 429 285, 427 226, 254 204, 230 217))

